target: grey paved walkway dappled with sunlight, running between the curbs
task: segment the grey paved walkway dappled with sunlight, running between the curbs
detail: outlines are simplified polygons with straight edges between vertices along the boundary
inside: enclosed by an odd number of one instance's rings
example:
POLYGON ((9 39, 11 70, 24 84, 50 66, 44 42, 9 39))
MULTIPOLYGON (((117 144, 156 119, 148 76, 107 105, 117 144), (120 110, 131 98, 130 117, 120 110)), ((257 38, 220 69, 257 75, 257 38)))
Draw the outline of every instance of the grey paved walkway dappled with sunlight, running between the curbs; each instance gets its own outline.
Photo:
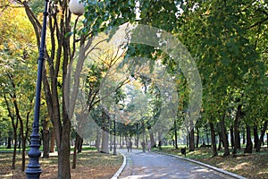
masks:
POLYGON ((133 149, 132 152, 127 152, 126 149, 120 149, 119 151, 127 158, 127 165, 119 178, 233 178, 205 166, 199 166, 180 158, 165 156, 155 152, 143 153, 138 149, 133 149))

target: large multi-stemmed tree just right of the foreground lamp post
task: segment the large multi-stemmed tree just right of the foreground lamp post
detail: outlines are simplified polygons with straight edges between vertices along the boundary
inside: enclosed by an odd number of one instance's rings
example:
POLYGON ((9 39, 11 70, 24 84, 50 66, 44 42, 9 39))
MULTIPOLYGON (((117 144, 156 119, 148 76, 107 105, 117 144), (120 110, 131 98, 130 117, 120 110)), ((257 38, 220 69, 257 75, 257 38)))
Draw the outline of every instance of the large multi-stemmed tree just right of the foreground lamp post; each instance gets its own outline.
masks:
MULTIPOLYGON (((40 43, 41 24, 38 17, 33 13, 27 1, 17 0, 28 15, 32 23, 38 45, 40 43)), ((38 3, 38 1, 34 1, 38 3)), ((34 3, 33 2, 33 3, 34 3)), ((79 60, 85 60, 85 47, 90 47, 92 39, 98 31, 106 30, 111 26, 121 25, 126 20, 133 20, 135 14, 135 1, 125 2, 85 2, 86 12, 84 24, 74 23, 71 29, 72 15, 68 8, 68 1, 52 1, 49 4, 48 32, 50 40, 46 41, 46 67, 43 71, 43 84, 46 94, 46 105, 50 119, 54 125, 56 145, 58 151, 58 178, 68 179, 71 177, 70 170, 70 132, 71 116, 68 115, 68 100, 64 90, 68 65, 73 64, 77 42, 80 41, 79 60), (105 23, 103 23, 105 22, 105 23), (75 30, 77 24, 82 30, 75 30), (72 37, 71 37, 72 34, 72 37), (87 43, 87 44, 85 44, 87 43)), ((78 21, 78 18, 77 18, 78 21)), ((79 81, 78 81, 79 82, 79 81)), ((67 85, 68 86, 68 85, 67 85)))

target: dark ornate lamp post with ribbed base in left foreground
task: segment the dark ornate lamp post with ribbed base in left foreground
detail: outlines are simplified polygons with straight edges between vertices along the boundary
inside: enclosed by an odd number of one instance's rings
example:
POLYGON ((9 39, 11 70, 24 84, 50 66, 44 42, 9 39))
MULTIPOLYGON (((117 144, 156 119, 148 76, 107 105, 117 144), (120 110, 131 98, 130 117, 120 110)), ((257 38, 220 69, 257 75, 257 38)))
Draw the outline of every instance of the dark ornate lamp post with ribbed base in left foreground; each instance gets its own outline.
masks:
POLYGON ((45 59, 45 40, 46 40, 46 18, 48 15, 48 0, 45 2, 45 11, 43 19, 43 27, 41 31, 41 43, 39 48, 38 57, 38 80, 36 86, 36 103, 34 111, 34 122, 32 125, 32 133, 30 135, 30 149, 29 149, 29 165, 25 171, 27 178, 39 178, 42 170, 39 164, 39 158, 41 156, 40 148, 40 135, 39 135, 39 113, 40 113, 40 96, 41 96, 41 82, 42 82, 42 70, 43 62, 45 59))

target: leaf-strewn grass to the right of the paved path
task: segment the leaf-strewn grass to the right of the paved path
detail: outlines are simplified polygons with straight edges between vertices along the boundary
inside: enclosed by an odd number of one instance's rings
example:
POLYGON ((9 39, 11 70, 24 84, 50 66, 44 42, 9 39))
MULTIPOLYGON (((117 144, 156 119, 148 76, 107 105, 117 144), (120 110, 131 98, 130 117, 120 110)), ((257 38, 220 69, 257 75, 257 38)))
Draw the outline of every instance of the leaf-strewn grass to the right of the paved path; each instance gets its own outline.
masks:
MULTIPOLYGON (((158 149, 157 149, 158 150, 158 149)), ((164 147, 163 152, 184 157, 180 154, 180 149, 164 147)), ((188 151, 188 150, 187 150, 188 151)), ((230 149, 231 152, 231 149, 230 149)), ((222 157, 223 151, 218 151, 219 156, 212 158, 212 149, 196 149, 187 152, 186 158, 191 158, 210 166, 216 166, 234 174, 242 175, 250 179, 268 178, 268 149, 264 148, 260 153, 243 154, 243 149, 238 155, 222 157)))

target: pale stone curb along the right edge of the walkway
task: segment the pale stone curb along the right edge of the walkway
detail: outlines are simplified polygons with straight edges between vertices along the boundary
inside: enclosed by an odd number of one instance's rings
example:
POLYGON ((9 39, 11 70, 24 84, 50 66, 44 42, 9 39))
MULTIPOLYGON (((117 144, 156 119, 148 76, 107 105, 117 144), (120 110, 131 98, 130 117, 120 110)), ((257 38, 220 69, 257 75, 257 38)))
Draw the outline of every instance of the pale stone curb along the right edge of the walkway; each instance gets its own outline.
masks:
POLYGON ((155 153, 158 153, 158 154, 161 154, 161 155, 167 155, 167 156, 172 156, 172 157, 174 157, 174 158, 184 159, 184 160, 187 160, 187 161, 189 161, 189 162, 198 164, 198 165, 200 165, 200 166, 208 167, 208 168, 213 169, 213 170, 215 170, 215 171, 217 171, 217 172, 220 172, 220 173, 222 173, 222 174, 224 174, 224 175, 230 175, 230 176, 232 176, 232 177, 234 177, 234 178, 238 178, 238 179, 246 179, 244 176, 237 175, 237 174, 233 174, 233 173, 228 172, 228 171, 226 171, 226 170, 222 170, 221 168, 218 168, 218 167, 215 167, 215 166, 210 166, 210 165, 207 165, 207 164, 205 164, 205 163, 199 162, 199 161, 197 161, 197 160, 193 160, 193 159, 190 159, 190 158, 182 158, 182 157, 180 157, 180 156, 176 156, 176 155, 173 155, 173 154, 168 154, 168 153, 164 153, 164 152, 160 152, 160 151, 154 151, 154 152, 155 152, 155 153))

